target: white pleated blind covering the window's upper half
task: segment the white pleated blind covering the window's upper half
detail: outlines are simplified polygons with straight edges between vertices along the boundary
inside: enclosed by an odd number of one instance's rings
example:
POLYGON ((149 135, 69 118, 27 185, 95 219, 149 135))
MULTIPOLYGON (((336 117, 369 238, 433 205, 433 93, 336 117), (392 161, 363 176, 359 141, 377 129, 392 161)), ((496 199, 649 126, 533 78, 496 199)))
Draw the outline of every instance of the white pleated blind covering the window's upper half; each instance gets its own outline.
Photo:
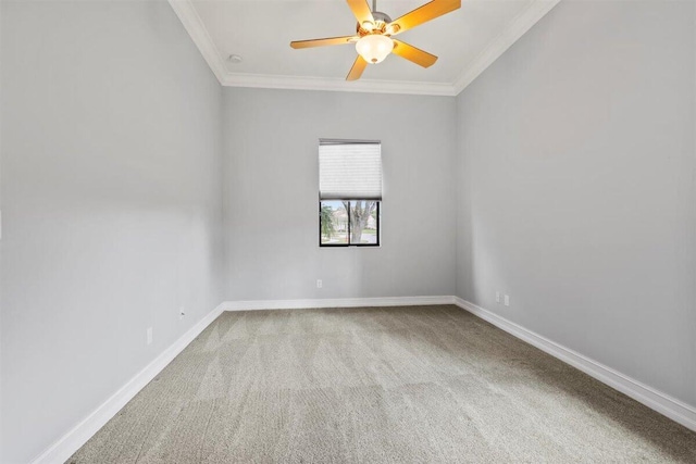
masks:
POLYGON ((319 198, 382 200, 382 145, 320 140, 319 198))

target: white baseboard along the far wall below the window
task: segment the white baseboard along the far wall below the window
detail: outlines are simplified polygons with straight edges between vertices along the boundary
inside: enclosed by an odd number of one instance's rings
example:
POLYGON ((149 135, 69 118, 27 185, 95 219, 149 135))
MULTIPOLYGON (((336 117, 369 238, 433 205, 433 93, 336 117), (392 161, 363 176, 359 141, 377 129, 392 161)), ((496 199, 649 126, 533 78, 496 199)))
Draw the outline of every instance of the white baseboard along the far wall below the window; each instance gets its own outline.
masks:
POLYGON ((420 306, 427 304, 455 304, 455 297, 386 297, 386 298, 333 298, 308 300, 249 300, 225 301, 224 311, 300 310, 310 308, 371 308, 420 306))

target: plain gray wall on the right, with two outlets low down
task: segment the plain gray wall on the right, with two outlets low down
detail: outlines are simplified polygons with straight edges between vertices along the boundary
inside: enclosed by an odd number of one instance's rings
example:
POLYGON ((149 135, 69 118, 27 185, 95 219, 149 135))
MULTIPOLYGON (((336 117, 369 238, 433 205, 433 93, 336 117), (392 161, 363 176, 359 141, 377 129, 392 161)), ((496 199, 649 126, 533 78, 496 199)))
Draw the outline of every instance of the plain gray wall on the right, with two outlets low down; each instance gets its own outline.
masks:
POLYGON ((689 404, 694 9, 561 2, 458 98, 458 294, 689 404))

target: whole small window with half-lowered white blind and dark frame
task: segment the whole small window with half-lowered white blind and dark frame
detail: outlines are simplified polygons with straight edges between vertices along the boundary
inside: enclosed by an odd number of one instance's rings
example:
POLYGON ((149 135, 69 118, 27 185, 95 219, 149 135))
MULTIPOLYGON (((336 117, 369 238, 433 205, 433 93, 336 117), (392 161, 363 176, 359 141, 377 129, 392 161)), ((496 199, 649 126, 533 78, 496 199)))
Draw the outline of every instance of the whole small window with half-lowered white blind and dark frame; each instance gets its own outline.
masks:
POLYGON ((321 139, 319 244, 378 247, 381 202, 381 143, 321 139))

